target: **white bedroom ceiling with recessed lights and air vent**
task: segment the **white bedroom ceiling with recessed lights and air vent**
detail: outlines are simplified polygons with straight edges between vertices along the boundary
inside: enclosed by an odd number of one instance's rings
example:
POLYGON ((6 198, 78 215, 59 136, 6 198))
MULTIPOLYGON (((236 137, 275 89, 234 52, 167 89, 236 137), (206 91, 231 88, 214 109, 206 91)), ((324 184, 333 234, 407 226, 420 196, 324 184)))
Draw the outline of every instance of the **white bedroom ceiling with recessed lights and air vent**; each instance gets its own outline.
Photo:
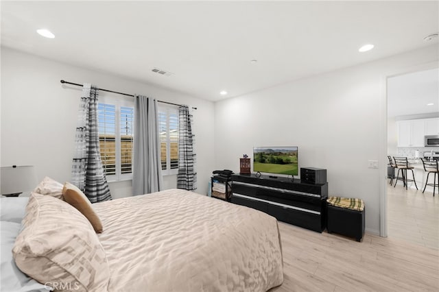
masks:
POLYGON ((438 44, 423 40, 439 31, 438 10, 438 1, 1 1, 1 44, 215 101, 438 44), (36 34, 42 27, 56 38, 36 34))

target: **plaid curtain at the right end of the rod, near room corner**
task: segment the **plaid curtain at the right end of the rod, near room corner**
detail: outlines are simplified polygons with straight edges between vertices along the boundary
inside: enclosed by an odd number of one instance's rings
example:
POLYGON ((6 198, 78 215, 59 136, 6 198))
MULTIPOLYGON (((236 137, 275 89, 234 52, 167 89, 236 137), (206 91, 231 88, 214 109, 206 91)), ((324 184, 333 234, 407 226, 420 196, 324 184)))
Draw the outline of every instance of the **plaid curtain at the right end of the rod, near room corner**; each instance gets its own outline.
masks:
POLYGON ((197 188, 195 153, 193 151, 192 115, 189 106, 178 109, 178 175, 177 188, 193 191, 197 188))

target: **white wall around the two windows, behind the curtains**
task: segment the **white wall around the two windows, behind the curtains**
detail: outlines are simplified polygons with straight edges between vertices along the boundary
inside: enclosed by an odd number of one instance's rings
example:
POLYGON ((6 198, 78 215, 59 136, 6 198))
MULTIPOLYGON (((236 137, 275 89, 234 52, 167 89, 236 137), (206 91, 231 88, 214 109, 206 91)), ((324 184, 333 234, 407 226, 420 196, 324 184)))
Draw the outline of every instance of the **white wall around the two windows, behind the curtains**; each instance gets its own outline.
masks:
MULTIPOLYGON (((82 88, 63 86, 61 79, 197 107, 193 132, 198 151, 198 193, 207 193, 214 162, 211 101, 5 47, 1 48, 1 166, 35 165, 38 179, 45 175, 60 182, 71 179, 82 88)), ((166 176, 164 182, 166 188, 175 188, 176 175, 166 176)), ((110 191, 113 198, 131 195, 131 181, 110 183, 110 191)))

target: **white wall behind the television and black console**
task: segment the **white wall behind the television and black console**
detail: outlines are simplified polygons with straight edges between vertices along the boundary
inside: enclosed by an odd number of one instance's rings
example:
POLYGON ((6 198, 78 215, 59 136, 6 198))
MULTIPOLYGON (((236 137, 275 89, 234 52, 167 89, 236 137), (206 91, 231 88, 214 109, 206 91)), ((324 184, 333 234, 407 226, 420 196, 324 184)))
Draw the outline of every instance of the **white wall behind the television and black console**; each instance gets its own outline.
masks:
POLYGON ((368 169, 368 160, 385 162, 383 80, 434 60, 438 51, 430 46, 219 101, 215 166, 239 171, 238 158, 252 156, 253 146, 298 146, 299 167, 327 169, 329 195, 364 199, 366 229, 378 234, 385 170, 368 169))

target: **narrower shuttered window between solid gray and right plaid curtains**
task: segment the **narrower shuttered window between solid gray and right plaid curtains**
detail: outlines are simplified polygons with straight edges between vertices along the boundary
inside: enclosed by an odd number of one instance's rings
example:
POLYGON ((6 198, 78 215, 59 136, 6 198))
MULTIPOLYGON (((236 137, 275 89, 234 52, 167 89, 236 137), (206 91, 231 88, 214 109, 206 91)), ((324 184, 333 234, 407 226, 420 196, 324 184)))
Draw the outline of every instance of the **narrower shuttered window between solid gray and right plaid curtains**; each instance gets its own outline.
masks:
POLYGON ((178 108, 158 108, 162 174, 178 173, 178 108))

